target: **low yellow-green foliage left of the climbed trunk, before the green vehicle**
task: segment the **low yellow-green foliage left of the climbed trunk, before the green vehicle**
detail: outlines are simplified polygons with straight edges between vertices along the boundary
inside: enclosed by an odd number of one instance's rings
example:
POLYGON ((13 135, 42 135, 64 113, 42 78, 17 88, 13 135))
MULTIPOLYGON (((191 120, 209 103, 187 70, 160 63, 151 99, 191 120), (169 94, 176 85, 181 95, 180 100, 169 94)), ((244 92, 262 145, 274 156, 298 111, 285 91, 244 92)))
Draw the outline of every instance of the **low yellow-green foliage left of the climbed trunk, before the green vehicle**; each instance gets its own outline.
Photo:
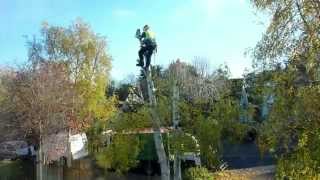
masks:
POLYGON ((87 132, 89 150, 97 159, 97 165, 105 169, 114 169, 118 173, 125 173, 135 167, 144 142, 136 134, 125 134, 146 127, 151 127, 151 122, 145 107, 137 112, 118 112, 108 122, 95 121, 87 132), (116 134, 104 134, 108 130, 116 134), (111 144, 108 144, 108 139, 111 140, 111 144))

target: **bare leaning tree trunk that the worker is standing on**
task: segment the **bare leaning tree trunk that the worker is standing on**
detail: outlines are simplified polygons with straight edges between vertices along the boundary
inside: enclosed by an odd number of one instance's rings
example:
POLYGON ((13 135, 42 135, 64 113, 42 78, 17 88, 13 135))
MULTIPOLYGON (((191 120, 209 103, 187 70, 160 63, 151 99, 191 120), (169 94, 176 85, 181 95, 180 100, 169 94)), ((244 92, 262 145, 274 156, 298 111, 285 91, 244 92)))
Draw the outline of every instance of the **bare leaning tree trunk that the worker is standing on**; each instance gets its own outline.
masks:
POLYGON ((161 135, 161 129, 160 129, 160 118, 156 111, 156 97, 153 94, 154 85, 151 79, 151 72, 148 70, 143 70, 144 75, 147 79, 147 87, 148 87, 148 96, 149 96, 149 106, 151 111, 151 117, 152 117, 152 126, 153 126, 153 139, 156 146, 156 151, 160 163, 161 168, 161 179, 162 180, 170 180, 170 167, 169 167, 169 161, 164 149, 162 135, 161 135))

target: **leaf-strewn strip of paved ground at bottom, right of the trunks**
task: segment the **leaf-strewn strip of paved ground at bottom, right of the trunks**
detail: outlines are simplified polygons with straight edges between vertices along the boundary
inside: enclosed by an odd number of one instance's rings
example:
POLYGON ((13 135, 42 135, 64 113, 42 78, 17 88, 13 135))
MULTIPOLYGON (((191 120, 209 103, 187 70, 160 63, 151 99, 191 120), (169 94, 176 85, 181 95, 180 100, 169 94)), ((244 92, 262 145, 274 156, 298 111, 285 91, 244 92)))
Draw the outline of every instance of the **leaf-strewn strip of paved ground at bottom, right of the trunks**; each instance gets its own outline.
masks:
POLYGON ((226 170, 216 173, 218 180, 273 180, 275 166, 226 170))

